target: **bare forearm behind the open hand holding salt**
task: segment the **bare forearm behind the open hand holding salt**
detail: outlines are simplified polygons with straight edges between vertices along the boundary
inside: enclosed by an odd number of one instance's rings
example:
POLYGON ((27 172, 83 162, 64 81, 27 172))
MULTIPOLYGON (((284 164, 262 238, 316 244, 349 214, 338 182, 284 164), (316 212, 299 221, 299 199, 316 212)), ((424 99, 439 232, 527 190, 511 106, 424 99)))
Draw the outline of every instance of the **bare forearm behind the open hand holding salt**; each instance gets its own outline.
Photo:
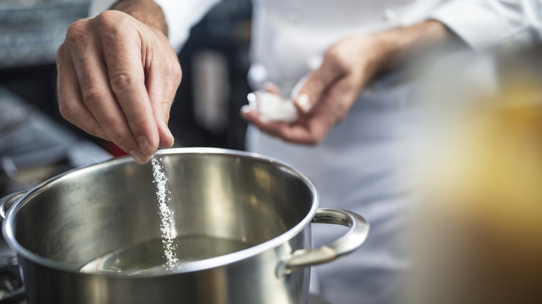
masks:
POLYGON ((374 37, 381 51, 379 54, 381 71, 397 67, 418 51, 459 41, 457 35, 436 20, 376 33, 374 37))

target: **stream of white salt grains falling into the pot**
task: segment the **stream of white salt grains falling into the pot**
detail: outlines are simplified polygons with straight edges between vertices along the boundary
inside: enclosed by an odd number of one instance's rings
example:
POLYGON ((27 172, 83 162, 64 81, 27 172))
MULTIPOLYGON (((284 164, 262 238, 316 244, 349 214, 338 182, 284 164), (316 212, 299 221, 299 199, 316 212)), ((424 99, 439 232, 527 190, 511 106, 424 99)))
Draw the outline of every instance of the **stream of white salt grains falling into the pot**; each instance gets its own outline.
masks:
POLYGON ((172 226, 175 225, 172 217, 173 211, 167 204, 167 177, 165 176, 163 164, 158 158, 153 156, 151 164, 152 175, 156 184, 156 197, 158 198, 158 214, 160 214, 161 219, 160 230, 162 232, 162 244, 166 259, 165 268, 173 270, 179 262, 179 258, 176 256, 176 246, 173 244, 172 226))

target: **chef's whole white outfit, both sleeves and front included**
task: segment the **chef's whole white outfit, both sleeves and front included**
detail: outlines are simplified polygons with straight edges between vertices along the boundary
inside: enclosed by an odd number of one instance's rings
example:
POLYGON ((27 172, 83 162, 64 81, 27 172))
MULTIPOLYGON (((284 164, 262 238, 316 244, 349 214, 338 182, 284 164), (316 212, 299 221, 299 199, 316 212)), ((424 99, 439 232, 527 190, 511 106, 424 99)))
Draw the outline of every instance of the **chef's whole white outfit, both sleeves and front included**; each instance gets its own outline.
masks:
MULTIPOLYGON (((195 24, 217 0, 155 0, 165 12, 170 42, 179 51, 195 24)), ((112 0, 92 3, 91 15, 112 0)), ((438 19, 476 51, 541 38, 540 1, 532 0, 254 0, 252 67, 254 89, 277 83, 290 92, 318 67, 325 51, 354 33, 374 33, 424 19, 438 19)), ((405 223, 413 187, 401 170, 409 84, 390 75, 363 91, 350 114, 318 146, 288 144, 256 128, 247 148, 304 171, 317 185, 321 208, 362 214, 371 224, 366 244, 343 260, 313 268, 313 290, 330 303, 395 303, 402 287, 405 223)), ((315 243, 336 235, 313 227, 315 243)))

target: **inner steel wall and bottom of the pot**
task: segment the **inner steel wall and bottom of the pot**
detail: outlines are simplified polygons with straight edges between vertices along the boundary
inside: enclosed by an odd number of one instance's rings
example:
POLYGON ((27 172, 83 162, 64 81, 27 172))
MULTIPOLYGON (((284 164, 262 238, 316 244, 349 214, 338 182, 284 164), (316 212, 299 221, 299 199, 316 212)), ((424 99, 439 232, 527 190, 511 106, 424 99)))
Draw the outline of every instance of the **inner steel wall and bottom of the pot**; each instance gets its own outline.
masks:
MULTIPOLYGON (((174 223, 167 222, 181 263, 273 239, 317 203, 313 184, 283 164, 227 151, 171 151, 155 157, 168 178, 174 223)), ((22 247, 67 269, 161 267, 166 258, 153 180, 150 162, 129 158, 78 169, 35 189, 8 221, 22 247)))

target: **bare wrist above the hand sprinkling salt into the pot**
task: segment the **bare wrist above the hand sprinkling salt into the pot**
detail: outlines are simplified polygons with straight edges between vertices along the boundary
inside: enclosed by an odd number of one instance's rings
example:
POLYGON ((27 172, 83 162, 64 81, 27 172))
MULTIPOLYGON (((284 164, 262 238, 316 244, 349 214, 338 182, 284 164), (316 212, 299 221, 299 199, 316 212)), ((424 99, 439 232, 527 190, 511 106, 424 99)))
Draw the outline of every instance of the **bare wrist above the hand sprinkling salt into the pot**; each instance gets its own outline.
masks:
POLYGON ((167 37, 167 22, 162 8, 152 0, 119 0, 111 6, 138 19, 145 25, 161 31, 167 37))

